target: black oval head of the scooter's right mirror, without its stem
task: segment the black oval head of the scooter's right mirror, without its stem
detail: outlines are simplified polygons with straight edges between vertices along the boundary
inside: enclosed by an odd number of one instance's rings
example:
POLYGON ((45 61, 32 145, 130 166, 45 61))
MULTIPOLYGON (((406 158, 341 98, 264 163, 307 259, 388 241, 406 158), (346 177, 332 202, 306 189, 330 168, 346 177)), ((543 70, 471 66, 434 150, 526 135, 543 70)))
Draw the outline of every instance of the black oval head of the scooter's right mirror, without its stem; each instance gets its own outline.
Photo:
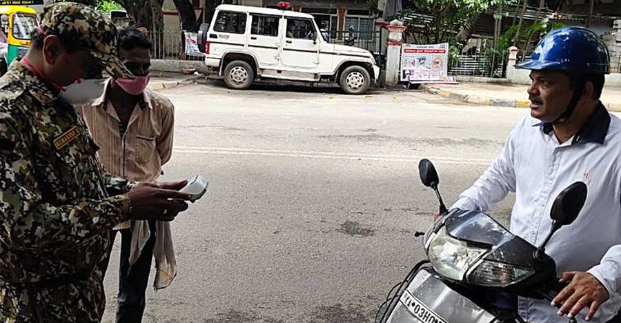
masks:
POLYGON ((580 214, 584 201, 586 201, 586 184, 575 182, 556 197, 550 217, 561 226, 572 224, 580 214))

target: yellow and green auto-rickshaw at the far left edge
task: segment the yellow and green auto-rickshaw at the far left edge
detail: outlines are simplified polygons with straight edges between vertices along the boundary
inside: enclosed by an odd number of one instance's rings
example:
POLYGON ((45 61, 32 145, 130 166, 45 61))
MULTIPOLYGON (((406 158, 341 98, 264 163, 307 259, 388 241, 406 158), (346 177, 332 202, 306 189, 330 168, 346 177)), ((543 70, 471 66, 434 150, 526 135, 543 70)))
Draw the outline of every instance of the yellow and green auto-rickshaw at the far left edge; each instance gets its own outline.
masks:
POLYGON ((37 11, 23 6, 0 6, 0 74, 30 47, 30 34, 37 28, 37 11))

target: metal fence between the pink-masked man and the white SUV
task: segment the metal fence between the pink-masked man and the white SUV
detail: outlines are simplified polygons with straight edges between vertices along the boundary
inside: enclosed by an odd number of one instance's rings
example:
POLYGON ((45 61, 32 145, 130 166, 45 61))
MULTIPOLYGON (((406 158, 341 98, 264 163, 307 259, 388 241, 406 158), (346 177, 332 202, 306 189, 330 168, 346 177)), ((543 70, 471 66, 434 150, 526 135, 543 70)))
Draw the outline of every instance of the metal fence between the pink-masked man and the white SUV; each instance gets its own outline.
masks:
POLYGON ((183 59, 188 61, 202 61, 204 57, 186 55, 184 32, 165 30, 163 32, 149 32, 152 42, 152 59, 183 59))

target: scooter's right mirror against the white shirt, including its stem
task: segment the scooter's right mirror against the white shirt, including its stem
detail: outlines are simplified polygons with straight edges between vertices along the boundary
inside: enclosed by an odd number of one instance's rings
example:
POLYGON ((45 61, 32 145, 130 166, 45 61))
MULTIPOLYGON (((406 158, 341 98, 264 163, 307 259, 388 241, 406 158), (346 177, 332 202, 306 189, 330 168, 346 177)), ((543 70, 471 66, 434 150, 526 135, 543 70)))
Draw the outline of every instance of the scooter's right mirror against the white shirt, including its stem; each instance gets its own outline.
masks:
POLYGON ((554 200, 550 217, 552 218, 552 229, 544 240, 543 244, 535 252, 535 259, 542 260, 545 252, 546 244, 556 231, 562 226, 572 224, 580 214, 582 206, 586 201, 586 184, 583 182, 575 182, 565 188, 554 200))

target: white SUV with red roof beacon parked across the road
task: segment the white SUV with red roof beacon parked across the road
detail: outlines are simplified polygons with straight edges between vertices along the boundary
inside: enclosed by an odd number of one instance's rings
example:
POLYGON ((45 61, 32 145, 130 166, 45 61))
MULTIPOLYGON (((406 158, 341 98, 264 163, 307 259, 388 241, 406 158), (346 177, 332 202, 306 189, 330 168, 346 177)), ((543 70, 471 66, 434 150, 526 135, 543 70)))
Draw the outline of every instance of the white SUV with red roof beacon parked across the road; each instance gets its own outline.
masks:
POLYGON ((348 94, 362 94, 380 68, 371 52, 328 43, 310 14, 221 5, 199 31, 206 64, 226 85, 246 89, 257 78, 332 81, 348 94))

